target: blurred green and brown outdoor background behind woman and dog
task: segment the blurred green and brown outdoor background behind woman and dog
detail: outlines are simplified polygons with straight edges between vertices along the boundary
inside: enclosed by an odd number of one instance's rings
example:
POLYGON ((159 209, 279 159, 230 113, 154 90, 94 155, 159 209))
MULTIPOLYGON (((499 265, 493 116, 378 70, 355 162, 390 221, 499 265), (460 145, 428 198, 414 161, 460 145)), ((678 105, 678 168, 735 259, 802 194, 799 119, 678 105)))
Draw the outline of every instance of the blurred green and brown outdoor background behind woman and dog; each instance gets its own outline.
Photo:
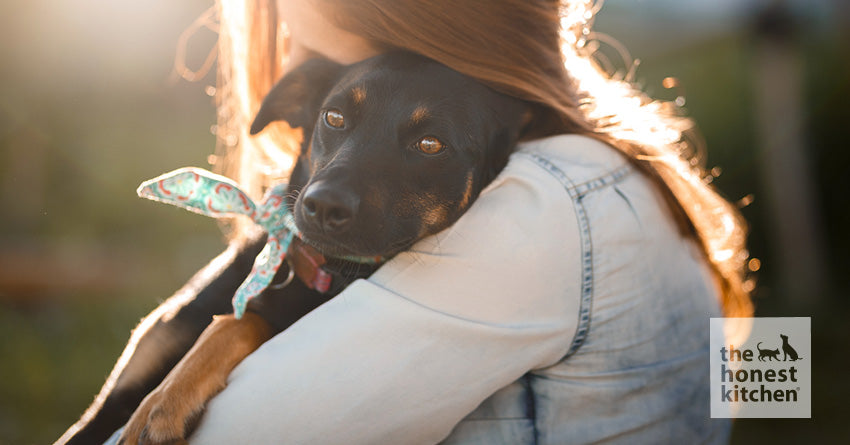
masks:
MULTIPOLYGON (((686 99, 718 188, 755 197, 744 213, 761 260, 757 315, 813 317, 813 418, 739 420, 734 443, 850 438, 846 3, 609 0, 597 18, 640 59, 646 91, 686 99), (679 86, 662 87, 668 76, 679 86)), ((134 193, 208 167, 214 76, 190 83, 172 66, 210 6, 0 3, 0 444, 58 438, 138 320, 224 246, 212 220, 134 193)), ((214 42, 196 35, 188 64, 214 42)))

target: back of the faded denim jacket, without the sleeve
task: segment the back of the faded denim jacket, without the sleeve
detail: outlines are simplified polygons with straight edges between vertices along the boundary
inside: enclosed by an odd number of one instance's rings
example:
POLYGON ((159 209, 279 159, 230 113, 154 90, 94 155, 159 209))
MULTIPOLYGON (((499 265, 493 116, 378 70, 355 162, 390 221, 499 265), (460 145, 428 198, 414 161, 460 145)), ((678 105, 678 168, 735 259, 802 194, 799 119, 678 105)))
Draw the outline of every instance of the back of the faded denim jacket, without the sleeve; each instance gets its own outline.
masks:
POLYGON ((575 207, 576 334, 557 364, 492 395, 443 443, 726 443, 729 421, 709 415, 708 319, 720 312, 704 257, 631 166, 557 153, 518 156, 556 177, 575 207))

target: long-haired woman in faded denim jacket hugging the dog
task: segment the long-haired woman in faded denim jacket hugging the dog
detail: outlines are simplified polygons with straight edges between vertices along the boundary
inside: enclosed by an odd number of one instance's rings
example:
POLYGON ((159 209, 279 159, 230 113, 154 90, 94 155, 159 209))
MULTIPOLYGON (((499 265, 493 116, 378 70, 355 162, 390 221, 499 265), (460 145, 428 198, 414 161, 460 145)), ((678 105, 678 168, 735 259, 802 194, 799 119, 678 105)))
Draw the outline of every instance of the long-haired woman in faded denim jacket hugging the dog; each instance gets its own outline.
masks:
POLYGON ((250 138, 250 119, 310 57, 403 48, 535 113, 454 227, 248 357, 192 443, 727 439, 729 423, 709 418, 708 318, 751 315, 744 224, 686 155, 690 122, 592 62, 590 2, 220 8, 216 166, 255 193, 299 135, 250 138))

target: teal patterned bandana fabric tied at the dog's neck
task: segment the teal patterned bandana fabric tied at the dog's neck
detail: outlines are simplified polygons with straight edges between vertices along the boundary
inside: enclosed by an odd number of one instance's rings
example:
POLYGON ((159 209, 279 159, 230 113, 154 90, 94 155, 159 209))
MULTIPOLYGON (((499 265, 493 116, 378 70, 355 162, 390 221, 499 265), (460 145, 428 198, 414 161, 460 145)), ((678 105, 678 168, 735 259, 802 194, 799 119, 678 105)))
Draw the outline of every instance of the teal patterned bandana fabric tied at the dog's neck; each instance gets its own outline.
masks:
POLYGON ((292 212, 284 200, 286 190, 286 184, 271 187, 258 205, 232 180, 187 167, 143 182, 136 193, 213 218, 245 215, 265 229, 268 242, 233 297, 233 313, 236 318, 242 318, 248 301, 268 287, 283 263, 292 238, 298 235, 292 212))

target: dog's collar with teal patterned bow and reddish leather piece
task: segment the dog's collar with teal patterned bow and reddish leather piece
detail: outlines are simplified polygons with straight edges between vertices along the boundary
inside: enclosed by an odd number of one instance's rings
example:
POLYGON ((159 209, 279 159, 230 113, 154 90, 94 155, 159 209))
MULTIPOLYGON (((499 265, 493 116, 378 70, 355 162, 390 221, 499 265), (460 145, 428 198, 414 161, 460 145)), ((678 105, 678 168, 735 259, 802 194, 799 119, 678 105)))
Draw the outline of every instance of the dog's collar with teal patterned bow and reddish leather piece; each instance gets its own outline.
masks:
MULTIPOLYGON (((316 249, 300 240, 295 218, 286 206, 286 184, 269 188, 260 204, 256 204, 239 186, 210 171, 186 167, 143 182, 136 193, 153 201, 164 202, 213 218, 244 215, 268 233, 263 250, 257 255, 251 273, 233 296, 233 314, 242 318, 248 301, 269 287, 284 258, 289 255, 292 276, 318 292, 331 288, 333 275, 325 270, 326 259, 316 249)), ((356 263, 378 264, 381 257, 341 257, 356 263)), ((284 285, 288 284, 287 279, 284 285)))

